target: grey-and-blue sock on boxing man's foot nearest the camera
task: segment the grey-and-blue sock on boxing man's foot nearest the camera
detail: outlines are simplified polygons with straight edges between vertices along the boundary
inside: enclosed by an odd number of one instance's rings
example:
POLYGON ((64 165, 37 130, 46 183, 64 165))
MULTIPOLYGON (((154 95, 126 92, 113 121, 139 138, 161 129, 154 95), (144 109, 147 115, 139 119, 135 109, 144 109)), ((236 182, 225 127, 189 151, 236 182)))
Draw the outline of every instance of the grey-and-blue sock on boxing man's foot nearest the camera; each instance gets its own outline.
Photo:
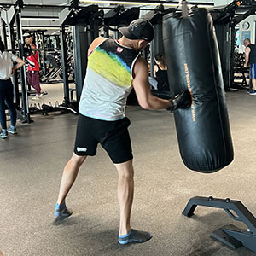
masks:
POLYGON ((130 230, 127 235, 119 236, 119 244, 127 244, 131 242, 145 242, 152 238, 152 234, 139 230, 130 230))

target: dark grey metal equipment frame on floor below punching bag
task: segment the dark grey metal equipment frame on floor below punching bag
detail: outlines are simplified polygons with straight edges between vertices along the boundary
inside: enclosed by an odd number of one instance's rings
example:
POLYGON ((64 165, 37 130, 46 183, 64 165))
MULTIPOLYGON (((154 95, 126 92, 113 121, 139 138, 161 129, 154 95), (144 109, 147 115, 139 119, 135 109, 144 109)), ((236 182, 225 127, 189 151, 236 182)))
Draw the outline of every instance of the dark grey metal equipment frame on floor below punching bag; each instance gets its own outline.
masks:
POLYGON ((223 242, 228 247, 236 249, 244 246, 256 253, 256 218, 248 211, 241 201, 227 199, 214 199, 212 196, 191 198, 183 210, 183 215, 191 217, 197 206, 222 208, 237 221, 247 225, 247 230, 237 228, 234 225, 226 225, 212 232, 212 237, 223 242), (236 213, 236 214, 234 214, 236 213))

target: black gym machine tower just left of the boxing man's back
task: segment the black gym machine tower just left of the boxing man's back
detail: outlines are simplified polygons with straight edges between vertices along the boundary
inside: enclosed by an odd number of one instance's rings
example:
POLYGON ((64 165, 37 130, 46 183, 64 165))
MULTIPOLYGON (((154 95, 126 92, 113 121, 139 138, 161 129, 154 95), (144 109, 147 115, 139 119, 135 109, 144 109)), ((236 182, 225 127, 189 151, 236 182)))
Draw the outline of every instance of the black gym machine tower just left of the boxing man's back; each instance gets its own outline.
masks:
MULTIPOLYGON (((98 27, 96 21, 101 14, 96 5, 90 5, 79 9, 79 1, 73 1, 73 4, 63 9, 60 14, 61 23, 61 55, 63 67, 64 83, 64 104, 70 105, 70 90, 67 74, 67 44, 66 44, 66 26, 73 26, 73 51, 77 101, 82 92, 85 71, 87 66, 87 50, 90 43, 97 37, 98 27), (98 15, 98 16, 97 16, 98 15)), ((73 93, 73 91, 72 91, 73 93)))

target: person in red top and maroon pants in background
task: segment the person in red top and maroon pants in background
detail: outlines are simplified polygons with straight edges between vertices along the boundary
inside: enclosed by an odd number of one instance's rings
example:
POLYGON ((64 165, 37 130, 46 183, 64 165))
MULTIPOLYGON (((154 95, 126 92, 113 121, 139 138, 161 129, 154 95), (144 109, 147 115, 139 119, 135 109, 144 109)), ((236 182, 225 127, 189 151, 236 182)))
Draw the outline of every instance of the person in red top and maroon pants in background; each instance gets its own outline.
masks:
POLYGON ((26 47, 30 49, 30 55, 27 57, 28 69, 27 69, 27 82, 36 90, 36 96, 32 97, 32 100, 40 100, 41 96, 47 94, 41 90, 40 79, 39 79, 39 59, 38 51, 36 50, 36 44, 34 37, 29 35, 26 38, 26 47))

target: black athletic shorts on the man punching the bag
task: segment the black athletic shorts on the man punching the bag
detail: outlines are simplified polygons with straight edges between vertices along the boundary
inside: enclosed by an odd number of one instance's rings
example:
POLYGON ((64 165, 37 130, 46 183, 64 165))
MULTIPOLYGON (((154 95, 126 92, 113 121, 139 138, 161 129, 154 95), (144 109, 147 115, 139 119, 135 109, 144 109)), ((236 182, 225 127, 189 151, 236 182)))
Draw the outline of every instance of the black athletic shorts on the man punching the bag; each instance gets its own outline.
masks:
POLYGON ((97 144, 101 143, 114 164, 124 163, 133 158, 128 118, 117 121, 92 119, 79 114, 74 153, 96 155, 97 144))

